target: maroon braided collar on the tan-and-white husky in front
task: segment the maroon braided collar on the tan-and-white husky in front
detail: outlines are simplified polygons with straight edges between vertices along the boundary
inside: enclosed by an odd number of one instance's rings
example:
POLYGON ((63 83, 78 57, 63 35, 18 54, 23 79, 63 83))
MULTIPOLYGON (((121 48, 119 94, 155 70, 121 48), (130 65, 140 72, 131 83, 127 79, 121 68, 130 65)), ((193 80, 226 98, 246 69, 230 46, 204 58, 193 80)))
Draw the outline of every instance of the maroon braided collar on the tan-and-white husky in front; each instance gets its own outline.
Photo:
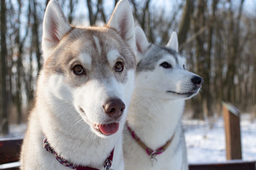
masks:
MULTIPOLYGON (((46 149, 46 151, 52 153, 55 156, 55 158, 64 166, 67 166, 67 167, 70 167, 70 168, 76 169, 76 170, 99 170, 99 169, 91 168, 91 167, 88 167, 88 166, 75 165, 75 164, 61 158, 61 156, 52 149, 52 147, 50 146, 50 144, 47 141, 47 138, 46 138, 45 134, 44 134, 44 145, 43 146, 46 149)), ((112 160, 113 160, 113 156, 114 156, 114 149, 111 151, 109 157, 105 160, 105 162, 103 164, 103 166, 106 170, 110 169, 110 166, 112 165, 112 160)))

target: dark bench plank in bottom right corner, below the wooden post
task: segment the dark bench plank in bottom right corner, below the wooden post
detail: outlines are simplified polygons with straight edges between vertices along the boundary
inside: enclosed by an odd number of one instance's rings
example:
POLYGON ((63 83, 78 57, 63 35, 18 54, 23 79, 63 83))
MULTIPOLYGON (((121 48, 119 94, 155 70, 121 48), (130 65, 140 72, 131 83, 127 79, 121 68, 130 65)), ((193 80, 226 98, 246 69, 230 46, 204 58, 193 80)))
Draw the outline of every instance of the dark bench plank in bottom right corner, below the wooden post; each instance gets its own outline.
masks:
POLYGON ((190 164, 189 170, 256 170, 256 161, 190 164))

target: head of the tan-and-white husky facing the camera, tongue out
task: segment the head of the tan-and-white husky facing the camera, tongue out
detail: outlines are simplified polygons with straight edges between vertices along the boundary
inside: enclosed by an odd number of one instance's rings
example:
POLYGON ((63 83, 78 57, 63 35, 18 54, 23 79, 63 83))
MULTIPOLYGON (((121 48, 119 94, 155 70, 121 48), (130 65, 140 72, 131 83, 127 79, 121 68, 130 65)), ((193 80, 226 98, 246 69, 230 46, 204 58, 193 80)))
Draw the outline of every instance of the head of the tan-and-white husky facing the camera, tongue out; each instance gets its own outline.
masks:
POLYGON ((51 0, 44 16, 42 49, 39 88, 51 116, 73 125, 81 116, 100 137, 121 131, 136 69, 128 1, 118 2, 106 26, 85 28, 69 25, 58 1, 51 0))

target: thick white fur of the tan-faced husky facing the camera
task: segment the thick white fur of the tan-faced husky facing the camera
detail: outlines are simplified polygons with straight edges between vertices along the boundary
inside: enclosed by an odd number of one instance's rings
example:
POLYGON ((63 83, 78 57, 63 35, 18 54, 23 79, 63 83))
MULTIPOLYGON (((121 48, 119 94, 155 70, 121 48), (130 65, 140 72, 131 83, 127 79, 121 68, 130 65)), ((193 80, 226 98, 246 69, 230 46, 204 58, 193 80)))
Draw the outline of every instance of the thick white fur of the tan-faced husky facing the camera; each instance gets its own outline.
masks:
MULTIPOLYGON (((125 22, 129 24, 133 22, 127 0, 119 1, 108 24, 118 28, 120 24, 118 19, 124 20, 122 17, 128 18, 125 22)), ((60 5, 56 0, 51 0, 46 9, 43 24, 44 63, 51 56, 52 49, 58 45, 58 42, 52 39, 52 33, 55 33, 60 40, 69 28, 60 5), (51 32, 52 21, 58 26, 55 32, 51 32)), ((134 40, 133 31, 131 24, 127 36, 134 40)), ((132 40, 129 40, 129 43, 132 44, 132 40)), ((79 58, 82 58, 82 63, 91 65, 89 55, 81 54, 79 58)), ((65 75, 51 74, 49 76, 49 72, 50 70, 44 68, 38 78, 36 106, 30 114, 28 130, 22 145, 21 169, 70 169, 61 165, 52 153, 45 151, 43 134, 47 136, 51 147, 62 158, 76 165, 90 166, 100 170, 104 169, 103 163, 115 147, 111 168, 124 169, 122 131, 134 88, 134 70, 128 71, 126 83, 120 83, 113 77, 103 83, 95 80, 79 87, 65 82, 65 75), (100 124, 106 120, 106 114, 102 113, 102 104, 107 99, 115 97, 120 98, 126 108, 119 121, 118 131, 113 135, 104 136, 93 129, 92 124, 100 124), (81 113, 80 107, 86 115, 81 113)))

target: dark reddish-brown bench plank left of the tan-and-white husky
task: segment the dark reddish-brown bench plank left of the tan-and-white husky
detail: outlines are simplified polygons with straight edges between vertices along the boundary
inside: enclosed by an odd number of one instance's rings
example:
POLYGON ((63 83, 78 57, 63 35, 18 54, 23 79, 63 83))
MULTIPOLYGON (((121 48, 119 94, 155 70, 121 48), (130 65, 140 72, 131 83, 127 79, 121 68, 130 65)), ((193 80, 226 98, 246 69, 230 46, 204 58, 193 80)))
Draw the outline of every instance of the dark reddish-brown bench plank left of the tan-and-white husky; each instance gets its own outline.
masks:
POLYGON ((22 141, 20 138, 0 140, 0 165, 19 161, 22 141))

